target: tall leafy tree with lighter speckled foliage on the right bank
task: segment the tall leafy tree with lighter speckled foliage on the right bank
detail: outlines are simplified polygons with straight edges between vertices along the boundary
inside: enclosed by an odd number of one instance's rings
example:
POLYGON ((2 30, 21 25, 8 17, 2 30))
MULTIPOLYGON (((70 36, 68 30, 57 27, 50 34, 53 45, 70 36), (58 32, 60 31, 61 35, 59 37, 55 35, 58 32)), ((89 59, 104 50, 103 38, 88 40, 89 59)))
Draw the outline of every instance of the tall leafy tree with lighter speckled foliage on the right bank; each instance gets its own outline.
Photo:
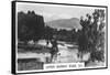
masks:
POLYGON ((81 17, 82 30, 78 39, 79 52, 90 52, 92 61, 103 60, 105 50, 105 10, 95 10, 92 15, 81 17))

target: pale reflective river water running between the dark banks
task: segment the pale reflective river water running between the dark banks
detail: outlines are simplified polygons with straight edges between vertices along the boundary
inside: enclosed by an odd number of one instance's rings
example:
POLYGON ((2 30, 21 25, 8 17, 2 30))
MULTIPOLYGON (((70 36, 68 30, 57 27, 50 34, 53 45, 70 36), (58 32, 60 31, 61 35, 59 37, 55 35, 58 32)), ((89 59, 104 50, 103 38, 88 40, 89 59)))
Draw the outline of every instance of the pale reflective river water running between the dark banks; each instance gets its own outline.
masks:
MULTIPOLYGON (((76 47, 77 45, 73 45, 73 44, 68 44, 66 42, 63 41, 58 41, 58 43, 62 43, 64 45, 58 44, 58 53, 57 53, 57 57, 53 58, 53 63, 75 63, 75 62, 79 62, 80 58, 77 56, 78 54, 78 49, 76 47)), ((37 42, 37 44, 40 45, 46 45, 46 41, 45 40, 40 40, 37 42)), ((52 44, 50 43, 47 45, 48 47, 52 46, 52 44)), ((32 53, 32 52, 28 52, 28 53, 18 53, 18 58, 40 58, 41 62, 46 62, 46 58, 51 58, 51 54, 50 53, 32 53)), ((84 58, 88 58, 88 55, 84 58)))

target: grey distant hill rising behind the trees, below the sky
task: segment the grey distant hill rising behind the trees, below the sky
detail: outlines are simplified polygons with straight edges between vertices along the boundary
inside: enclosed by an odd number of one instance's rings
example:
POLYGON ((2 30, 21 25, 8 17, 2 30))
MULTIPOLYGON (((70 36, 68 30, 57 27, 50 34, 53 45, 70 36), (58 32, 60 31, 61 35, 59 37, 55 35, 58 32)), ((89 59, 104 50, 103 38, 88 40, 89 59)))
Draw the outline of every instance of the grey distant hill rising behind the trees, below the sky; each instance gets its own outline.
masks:
POLYGON ((81 25, 79 24, 79 19, 72 18, 72 19, 58 19, 53 20, 50 22, 46 22, 45 24, 51 28, 57 28, 57 29, 81 29, 81 25))

